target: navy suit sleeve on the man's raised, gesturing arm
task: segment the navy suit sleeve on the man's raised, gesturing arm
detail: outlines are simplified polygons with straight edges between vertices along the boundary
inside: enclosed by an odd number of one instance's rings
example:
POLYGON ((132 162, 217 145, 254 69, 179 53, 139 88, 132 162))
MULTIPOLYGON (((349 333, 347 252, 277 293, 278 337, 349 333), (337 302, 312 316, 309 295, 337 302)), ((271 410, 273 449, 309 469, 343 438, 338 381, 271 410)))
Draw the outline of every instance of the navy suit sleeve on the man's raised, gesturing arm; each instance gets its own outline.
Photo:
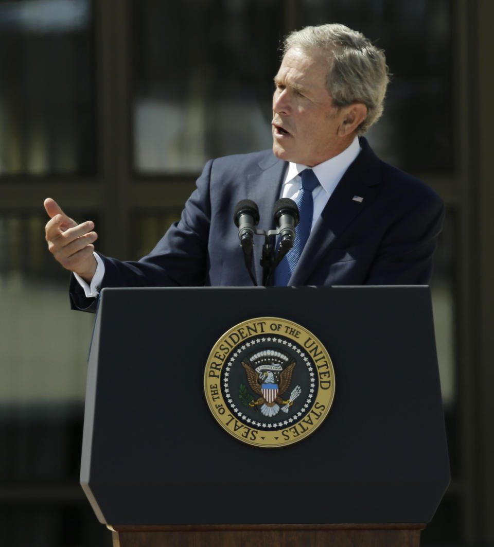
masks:
MULTIPOLYGON (((104 287, 202 286, 207 282, 208 238, 211 223, 209 161, 185 203, 181 219, 172 224, 152 252, 138 261, 104 257, 104 287)), ((72 276, 72 309, 96 311, 96 299, 85 298, 72 276)))

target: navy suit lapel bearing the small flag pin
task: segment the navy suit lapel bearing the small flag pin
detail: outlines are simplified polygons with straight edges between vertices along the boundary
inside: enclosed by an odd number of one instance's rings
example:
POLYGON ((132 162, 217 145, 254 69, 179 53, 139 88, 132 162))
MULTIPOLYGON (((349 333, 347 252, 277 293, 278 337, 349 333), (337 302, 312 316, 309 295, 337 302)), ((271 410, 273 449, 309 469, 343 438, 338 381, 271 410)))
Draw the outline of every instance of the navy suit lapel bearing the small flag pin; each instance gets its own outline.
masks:
POLYGON ((347 226, 379 196, 379 159, 364 138, 361 153, 348 167, 318 218, 288 285, 306 283, 328 249, 337 245, 347 226), (353 197, 362 198, 354 200, 353 197))

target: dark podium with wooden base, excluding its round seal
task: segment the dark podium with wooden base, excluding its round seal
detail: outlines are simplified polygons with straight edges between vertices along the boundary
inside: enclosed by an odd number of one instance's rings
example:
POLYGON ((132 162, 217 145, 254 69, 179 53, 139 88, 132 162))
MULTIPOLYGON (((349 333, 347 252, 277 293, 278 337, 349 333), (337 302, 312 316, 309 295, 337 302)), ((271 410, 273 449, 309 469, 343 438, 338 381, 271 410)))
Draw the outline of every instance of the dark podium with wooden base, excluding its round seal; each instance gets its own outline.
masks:
POLYGON ((450 481, 428 287, 104 289, 80 482, 117 547, 418 546, 450 481), (207 408, 208 355, 257 317, 328 350, 335 398, 261 449, 207 408))

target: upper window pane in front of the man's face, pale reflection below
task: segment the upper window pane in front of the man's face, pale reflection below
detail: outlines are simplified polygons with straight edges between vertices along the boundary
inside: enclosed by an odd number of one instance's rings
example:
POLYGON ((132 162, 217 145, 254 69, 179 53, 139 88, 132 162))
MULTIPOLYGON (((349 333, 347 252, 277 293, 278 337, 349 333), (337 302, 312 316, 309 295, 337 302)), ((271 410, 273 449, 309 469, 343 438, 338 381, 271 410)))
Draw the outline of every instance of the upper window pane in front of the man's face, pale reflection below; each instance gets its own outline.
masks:
POLYGON ((133 2, 134 163, 196 172, 271 147, 279 0, 133 2))

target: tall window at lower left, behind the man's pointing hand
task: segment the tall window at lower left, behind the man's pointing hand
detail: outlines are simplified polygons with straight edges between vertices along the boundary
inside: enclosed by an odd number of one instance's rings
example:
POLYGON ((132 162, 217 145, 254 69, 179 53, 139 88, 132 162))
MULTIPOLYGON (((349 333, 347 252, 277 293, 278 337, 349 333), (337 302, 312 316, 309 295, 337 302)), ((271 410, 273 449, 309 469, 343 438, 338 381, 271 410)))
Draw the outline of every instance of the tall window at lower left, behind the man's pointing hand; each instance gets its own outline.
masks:
POLYGON ((80 440, 65 433, 82 423, 94 316, 70 312, 69 274, 49 253, 44 224, 41 214, 0 213, 0 424, 11 421, 0 481, 78 475, 80 440))

